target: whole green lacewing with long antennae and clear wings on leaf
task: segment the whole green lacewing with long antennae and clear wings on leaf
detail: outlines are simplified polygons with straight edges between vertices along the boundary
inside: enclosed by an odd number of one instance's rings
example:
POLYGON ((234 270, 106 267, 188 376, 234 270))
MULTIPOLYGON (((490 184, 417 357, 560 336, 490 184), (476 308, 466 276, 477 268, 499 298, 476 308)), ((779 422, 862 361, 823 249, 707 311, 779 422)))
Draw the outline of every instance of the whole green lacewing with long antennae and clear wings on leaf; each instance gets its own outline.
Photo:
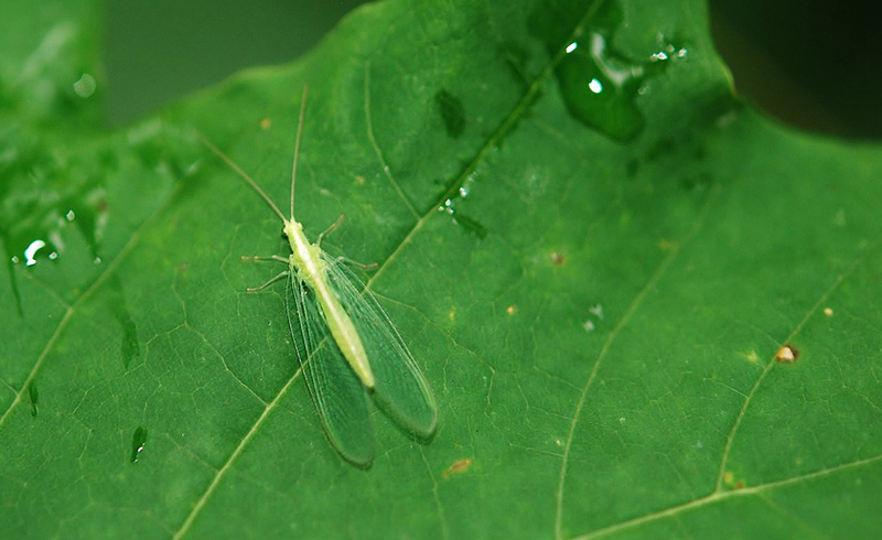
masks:
POLYGON ((286 313, 294 350, 327 440, 346 461, 367 467, 375 452, 370 398, 399 428, 423 441, 434 433, 438 406, 413 355, 377 299, 344 259, 331 257, 321 248, 324 236, 340 225, 343 216, 319 235, 315 244, 309 241, 303 225, 294 219, 305 107, 306 87, 294 142, 290 218, 238 164, 202 134, 200 139, 281 218, 291 253, 244 259, 275 260, 288 268, 248 292, 286 281, 286 313))

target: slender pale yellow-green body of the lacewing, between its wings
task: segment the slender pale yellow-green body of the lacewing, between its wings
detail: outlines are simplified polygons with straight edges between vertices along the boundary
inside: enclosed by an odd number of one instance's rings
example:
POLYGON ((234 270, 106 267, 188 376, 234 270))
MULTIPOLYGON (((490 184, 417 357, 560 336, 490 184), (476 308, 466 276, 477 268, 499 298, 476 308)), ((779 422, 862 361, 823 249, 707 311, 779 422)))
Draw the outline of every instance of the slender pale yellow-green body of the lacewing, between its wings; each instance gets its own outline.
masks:
POLYGON ((343 353, 343 357, 349 363, 362 384, 373 389, 374 372, 370 370, 367 353, 352 318, 327 283, 327 269, 321 257, 322 248, 309 241, 303 234, 303 225, 299 222, 286 219, 284 235, 291 245, 291 257, 288 259, 290 270, 297 272, 297 277, 315 293, 327 330, 331 331, 331 336, 343 353))

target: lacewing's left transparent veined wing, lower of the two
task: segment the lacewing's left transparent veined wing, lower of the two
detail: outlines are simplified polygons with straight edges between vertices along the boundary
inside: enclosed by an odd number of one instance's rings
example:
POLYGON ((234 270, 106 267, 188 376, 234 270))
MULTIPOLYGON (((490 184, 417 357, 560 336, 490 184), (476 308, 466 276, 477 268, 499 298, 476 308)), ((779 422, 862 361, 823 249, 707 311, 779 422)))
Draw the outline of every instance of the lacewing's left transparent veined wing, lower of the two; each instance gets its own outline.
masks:
POLYGON ((313 292, 295 273, 288 279, 286 312, 306 387, 331 445, 353 464, 367 466, 374 460, 367 392, 331 337, 313 292))

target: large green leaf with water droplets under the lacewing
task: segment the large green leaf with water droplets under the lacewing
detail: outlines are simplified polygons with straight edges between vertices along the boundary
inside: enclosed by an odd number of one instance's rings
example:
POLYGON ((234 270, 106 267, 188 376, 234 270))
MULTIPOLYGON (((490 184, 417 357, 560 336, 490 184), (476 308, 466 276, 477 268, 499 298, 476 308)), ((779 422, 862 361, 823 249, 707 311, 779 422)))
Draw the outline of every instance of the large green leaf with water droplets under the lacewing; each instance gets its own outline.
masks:
POLYGON ((742 106, 702 2, 387 1, 115 133, 98 10, 7 3, 4 537, 882 534, 882 149, 742 106), (193 136, 283 203, 305 84, 298 217, 347 217, 440 406, 368 471, 193 136))

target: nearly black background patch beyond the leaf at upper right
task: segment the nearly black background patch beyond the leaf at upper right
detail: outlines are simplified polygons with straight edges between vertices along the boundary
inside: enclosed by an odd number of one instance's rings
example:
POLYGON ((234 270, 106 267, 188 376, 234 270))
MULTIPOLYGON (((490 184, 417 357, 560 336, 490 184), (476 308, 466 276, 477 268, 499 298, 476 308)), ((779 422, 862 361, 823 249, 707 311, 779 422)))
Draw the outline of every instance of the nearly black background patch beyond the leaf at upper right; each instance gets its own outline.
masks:
POLYGON ((717 50, 747 100, 792 126, 882 139, 882 30, 871 2, 711 0, 717 50))

